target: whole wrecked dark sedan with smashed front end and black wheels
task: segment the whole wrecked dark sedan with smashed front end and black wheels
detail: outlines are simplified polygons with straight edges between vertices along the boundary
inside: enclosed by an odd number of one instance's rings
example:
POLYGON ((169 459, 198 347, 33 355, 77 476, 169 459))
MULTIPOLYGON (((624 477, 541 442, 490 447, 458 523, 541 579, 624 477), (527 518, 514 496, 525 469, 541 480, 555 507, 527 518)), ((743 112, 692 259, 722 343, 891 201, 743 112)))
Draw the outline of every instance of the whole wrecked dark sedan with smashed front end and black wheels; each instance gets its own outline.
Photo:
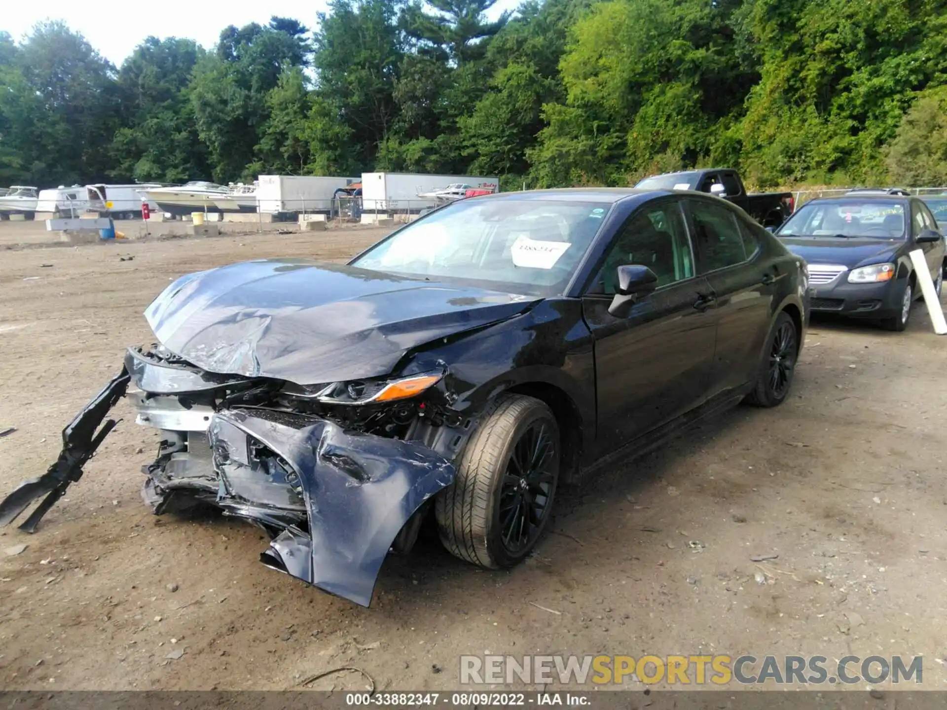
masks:
POLYGON ((472 197, 348 265, 182 276, 145 312, 157 344, 129 348, 0 524, 45 496, 35 529, 128 392, 160 431, 152 510, 245 518, 281 572, 367 605, 429 515, 460 559, 513 565, 563 481, 784 401, 805 293, 803 260, 742 210, 665 190, 472 197))

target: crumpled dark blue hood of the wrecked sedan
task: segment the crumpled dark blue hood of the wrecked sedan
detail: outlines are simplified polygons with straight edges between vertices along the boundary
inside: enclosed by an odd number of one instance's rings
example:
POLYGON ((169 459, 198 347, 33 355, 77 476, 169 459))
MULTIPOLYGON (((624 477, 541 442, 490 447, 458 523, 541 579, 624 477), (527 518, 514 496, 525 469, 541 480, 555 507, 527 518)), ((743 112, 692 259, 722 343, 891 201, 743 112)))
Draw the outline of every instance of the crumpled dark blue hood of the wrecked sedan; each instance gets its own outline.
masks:
POLYGON ((158 341, 208 372, 298 384, 386 375, 411 348, 539 299, 304 259, 189 274, 145 311, 158 341))

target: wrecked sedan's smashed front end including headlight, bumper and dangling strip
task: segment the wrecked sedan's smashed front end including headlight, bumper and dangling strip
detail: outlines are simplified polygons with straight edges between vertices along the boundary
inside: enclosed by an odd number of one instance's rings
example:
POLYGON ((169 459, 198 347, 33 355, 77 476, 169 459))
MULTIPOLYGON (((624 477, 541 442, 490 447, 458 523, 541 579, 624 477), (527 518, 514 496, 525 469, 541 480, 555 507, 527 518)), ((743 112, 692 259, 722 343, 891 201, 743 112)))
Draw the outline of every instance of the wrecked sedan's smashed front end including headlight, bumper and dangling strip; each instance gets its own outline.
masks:
POLYGON ((218 506, 267 531, 267 566, 367 606, 388 550, 410 547, 425 502, 454 480, 453 464, 421 443, 456 440, 436 431, 451 427, 418 397, 442 375, 309 387, 130 348, 121 373, 63 430, 57 463, 0 504, 0 524, 45 496, 21 525, 35 529, 116 425, 102 422, 127 389, 137 422, 160 431, 142 469, 155 514, 218 506))

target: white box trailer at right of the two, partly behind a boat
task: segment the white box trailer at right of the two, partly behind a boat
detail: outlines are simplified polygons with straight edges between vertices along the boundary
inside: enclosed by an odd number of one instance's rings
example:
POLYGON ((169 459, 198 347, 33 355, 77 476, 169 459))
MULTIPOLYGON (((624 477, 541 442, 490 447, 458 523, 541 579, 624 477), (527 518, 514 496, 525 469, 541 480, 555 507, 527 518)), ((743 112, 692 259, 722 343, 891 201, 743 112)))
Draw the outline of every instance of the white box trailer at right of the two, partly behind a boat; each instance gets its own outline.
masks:
POLYGON ((420 212, 438 199, 429 193, 449 185, 499 192, 500 179, 477 175, 424 175, 414 172, 363 172, 362 208, 365 212, 420 212), (421 197, 423 195, 423 197, 421 197))

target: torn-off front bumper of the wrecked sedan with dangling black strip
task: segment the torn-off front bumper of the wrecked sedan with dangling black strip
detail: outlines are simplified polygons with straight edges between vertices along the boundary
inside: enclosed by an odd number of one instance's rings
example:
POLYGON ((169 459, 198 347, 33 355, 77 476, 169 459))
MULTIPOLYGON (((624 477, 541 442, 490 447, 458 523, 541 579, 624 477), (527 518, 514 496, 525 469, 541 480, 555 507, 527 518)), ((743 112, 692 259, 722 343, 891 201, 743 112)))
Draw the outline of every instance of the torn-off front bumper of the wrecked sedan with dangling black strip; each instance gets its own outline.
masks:
POLYGON ((207 406, 202 397, 222 378, 130 350, 121 373, 63 430, 56 464, 0 503, 0 524, 46 496, 21 525, 35 529, 115 426, 102 422, 130 381, 142 390, 138 423, 162 432, 157 458, 143 467, 142 497, 156 514, 218 506, 270 533, 260 556, 267 566, 363 606, 402 528, 454 481, 453 464, 417 442, 276 409, 207 406))

